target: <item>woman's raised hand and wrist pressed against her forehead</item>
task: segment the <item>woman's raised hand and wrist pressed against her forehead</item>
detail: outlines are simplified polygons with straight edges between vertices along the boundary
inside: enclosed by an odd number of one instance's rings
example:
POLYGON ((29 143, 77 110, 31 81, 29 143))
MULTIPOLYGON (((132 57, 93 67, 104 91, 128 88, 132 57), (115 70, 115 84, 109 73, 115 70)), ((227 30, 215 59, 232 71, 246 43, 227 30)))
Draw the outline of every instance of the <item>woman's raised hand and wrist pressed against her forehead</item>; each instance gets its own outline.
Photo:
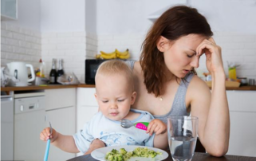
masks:
POLYGON ((216 45, 215 40, 211 37, 205 39, 197 47, 197 56, 200 57, 203 53, 207 59, 207 69, 211 74, 224 73, 222 51, 219 45, 216 45))

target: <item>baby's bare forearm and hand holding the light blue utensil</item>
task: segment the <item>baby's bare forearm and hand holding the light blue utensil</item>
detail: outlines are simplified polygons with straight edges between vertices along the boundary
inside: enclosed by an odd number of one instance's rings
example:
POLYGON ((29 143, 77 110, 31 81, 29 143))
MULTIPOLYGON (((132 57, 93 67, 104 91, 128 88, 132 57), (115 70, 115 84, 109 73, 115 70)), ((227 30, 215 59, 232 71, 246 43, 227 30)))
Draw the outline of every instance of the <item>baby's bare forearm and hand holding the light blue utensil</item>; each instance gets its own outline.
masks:
POLYGON ((50 135, 49 128, 45 128, 40 133, 40 139, 43 141, 51 139, 51 143, 54 146, 59 147, 62 151, 70 153, 79 152, 72 135, 62 135, 61 133, 56 132, 54 129, 52 135, 50 135))

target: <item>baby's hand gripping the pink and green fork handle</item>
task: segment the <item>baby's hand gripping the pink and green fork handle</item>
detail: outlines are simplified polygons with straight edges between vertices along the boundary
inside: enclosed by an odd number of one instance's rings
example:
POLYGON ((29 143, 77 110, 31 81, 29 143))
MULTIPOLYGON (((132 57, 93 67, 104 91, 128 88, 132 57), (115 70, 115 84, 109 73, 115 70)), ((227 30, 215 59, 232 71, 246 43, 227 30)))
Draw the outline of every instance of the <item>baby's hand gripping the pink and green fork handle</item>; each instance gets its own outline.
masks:
POLYGON ((156 133, 156 135, 160 135, 164 132, 166 132, 167 126, 163 123, 163 121, 154 119, 148 124, 148 130, 147 133, 149 135, 152 135, 153 132, 156 133))

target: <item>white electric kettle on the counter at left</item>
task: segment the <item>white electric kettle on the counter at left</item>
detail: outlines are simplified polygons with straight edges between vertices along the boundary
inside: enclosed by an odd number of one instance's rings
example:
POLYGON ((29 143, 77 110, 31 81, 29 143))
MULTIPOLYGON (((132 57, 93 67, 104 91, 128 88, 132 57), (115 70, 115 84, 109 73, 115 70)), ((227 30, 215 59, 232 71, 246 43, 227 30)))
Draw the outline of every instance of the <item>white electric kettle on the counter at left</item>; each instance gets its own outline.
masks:
POLYGON ((33 66, 30 64, 26 64, 24 62, 11 62, 7 64, 7 68, 9 69, 9 74, 12 77, 15 77, 18 82, 11 81, 11 86, 27 86, 28 82, 34 81, 35 75, 33 71, 33 66), (28 70, 30 68, 30 73, 32 78, 28 78, 28 70))

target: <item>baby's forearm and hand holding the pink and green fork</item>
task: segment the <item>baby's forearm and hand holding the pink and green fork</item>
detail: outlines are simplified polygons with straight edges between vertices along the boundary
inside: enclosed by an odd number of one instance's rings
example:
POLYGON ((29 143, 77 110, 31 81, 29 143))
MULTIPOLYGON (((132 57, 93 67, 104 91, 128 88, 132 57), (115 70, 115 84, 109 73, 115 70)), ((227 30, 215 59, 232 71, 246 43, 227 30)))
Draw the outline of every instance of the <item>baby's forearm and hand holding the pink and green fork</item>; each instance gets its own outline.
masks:
POLYGON ((148 124, 147 133, 149 133, 149 135, 152 135, 153 132, 156 133, 154 138, 154 147, 166 149, 168 146, 166 124, 164 124, 163 121, 158 119, 152 120, 148 124))

